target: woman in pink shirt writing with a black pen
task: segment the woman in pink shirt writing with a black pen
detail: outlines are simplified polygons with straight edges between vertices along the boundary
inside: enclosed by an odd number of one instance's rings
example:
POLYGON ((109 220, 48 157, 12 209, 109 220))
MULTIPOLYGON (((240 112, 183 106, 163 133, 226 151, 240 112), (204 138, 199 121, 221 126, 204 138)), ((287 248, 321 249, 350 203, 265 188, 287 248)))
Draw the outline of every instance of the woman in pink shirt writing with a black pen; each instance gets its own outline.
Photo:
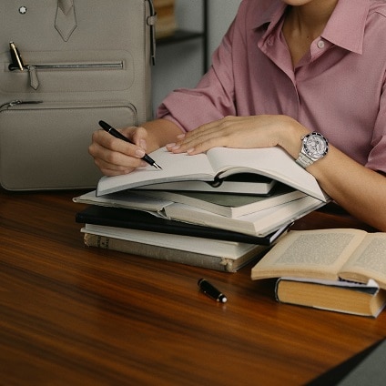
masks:
POLYGON ((340 206, 386 231, 385 37, 383 0, 244 0, 198 86, 123 130, 137 146, 98 130, 89 152, 113 176, 162 146, 280 146, 340 206), (303 154, 313 131, 317 157, 303 154))

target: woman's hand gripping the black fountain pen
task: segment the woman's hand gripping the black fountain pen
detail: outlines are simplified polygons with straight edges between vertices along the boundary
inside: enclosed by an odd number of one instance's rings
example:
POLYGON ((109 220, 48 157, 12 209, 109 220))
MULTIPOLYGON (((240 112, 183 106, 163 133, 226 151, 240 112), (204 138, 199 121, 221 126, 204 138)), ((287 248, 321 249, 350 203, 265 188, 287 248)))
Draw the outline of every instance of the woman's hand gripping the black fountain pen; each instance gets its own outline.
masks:
POLYGON ((146 167, 141 158, 147 151, 147 130, 144 127, 127 127, 119 130, 133 144, 96 130, 88 153, 94 157, 96 166, 106 176, 127 174, 136 168, 146 167))

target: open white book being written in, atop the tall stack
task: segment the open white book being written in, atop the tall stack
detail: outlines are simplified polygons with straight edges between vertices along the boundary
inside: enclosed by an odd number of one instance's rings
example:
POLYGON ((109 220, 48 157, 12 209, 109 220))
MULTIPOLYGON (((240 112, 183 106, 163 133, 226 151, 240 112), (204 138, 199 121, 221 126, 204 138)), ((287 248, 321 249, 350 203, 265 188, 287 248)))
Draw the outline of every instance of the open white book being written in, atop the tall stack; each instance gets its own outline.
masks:
MULTIPOLYGON (((214 147, 206 154, 173 154, 165 147, 150 154, 162 170, 148 166, 127 175, 100 178, 98 196, 129 188, 176 181, 220 181, 238 173, 256 173, 273 178, 314 198, 326 201, 316 179, 301 168, 281 147, 239 149, 214 147)), ((240 193, 242 193, 240 191, 240 193)))

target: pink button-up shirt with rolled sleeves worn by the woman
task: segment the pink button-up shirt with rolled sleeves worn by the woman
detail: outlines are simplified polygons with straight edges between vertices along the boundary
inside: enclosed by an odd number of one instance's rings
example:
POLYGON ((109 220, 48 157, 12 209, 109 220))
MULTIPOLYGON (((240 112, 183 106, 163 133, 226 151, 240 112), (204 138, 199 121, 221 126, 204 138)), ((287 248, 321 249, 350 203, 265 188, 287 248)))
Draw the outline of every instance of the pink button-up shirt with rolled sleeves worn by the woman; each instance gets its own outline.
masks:
POLYGON ((286 6, 243 0, 208 73, 167 96, 157 116, 189 131, 226 116, 284 114, 386 172, 386 2, 340 0, 295 68, 281 33, 286 6))

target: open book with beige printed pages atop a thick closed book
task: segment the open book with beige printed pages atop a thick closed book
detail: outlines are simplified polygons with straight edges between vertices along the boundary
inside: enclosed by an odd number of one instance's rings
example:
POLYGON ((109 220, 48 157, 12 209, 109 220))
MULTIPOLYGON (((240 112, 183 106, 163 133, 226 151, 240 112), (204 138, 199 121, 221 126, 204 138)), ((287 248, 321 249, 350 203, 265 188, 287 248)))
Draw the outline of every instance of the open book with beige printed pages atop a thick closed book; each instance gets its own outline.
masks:
POLYGON ((374 279, 386 290, 386 233, 361 229, 291 230, 253 267, 252 279, 374 279))

